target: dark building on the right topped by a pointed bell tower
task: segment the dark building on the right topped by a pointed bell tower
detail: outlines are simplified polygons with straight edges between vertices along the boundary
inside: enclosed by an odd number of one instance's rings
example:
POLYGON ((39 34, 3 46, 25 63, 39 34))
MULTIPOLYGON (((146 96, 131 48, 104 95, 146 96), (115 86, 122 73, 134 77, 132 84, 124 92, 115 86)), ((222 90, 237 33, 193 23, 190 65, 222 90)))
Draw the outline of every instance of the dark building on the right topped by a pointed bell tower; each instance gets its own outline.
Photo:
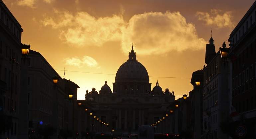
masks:
MULTIPOLYGON (((227 121, 231 104, 231 63, 215 53, 213 38, 206 45, 203 68, 203 136, 211 139, 224 139, 228 135, 221 128, 227 121)), ((223 42, 222 48, 226 48, 223 42)), ((220 48, 221 49, 221 48, 220 48)))

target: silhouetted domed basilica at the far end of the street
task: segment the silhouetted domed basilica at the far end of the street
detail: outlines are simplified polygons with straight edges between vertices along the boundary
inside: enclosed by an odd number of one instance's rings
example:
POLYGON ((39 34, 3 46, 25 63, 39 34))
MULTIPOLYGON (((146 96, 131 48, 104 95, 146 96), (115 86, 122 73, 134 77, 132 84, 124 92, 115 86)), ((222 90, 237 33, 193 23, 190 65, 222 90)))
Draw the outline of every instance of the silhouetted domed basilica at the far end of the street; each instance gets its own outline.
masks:
MULTIPOLYGON (((96 118, 93 120, 94 118, 90 117, 89 130, 114 129, 120 132, 137 132, 140 125, 158 122, 174 100, 174 92, 170 92, 169 89, 163 91, 158 81, 151 91, 148 72, 137 61, 132 46, 127 62, 117 70, 113 91, 107 85, 107 81, 98 92, 95 88, 86 91, 84 103, 91 106, 90 111, 96 118), (97 118, 103 123, 108 123, 107 128, 97 122, 97 118)), ((171 133, 171 124, 171 121, 166 122, 164 127, 156 128, 156 132, 171 133)))

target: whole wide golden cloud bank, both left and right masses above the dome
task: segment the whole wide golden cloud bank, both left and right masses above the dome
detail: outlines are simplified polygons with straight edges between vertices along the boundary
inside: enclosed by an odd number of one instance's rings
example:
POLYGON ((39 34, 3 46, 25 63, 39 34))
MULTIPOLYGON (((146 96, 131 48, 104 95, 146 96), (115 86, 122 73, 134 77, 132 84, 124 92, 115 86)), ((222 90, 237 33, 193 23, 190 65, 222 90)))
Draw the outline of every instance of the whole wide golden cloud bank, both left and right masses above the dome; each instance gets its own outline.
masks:
POLYGON ((179 12, 148 12, 134 15, 128 22, 122 15, 96 18, 86 12, 59 12, 56 16, 45 17, 41 23, 59 29, 59 37, 77 47, 100 47, 117 41, 125 53, 134 43, 136 52, 149 55, 198 50, 207 43, 198 37, 194 24, 187 23, 179 12))

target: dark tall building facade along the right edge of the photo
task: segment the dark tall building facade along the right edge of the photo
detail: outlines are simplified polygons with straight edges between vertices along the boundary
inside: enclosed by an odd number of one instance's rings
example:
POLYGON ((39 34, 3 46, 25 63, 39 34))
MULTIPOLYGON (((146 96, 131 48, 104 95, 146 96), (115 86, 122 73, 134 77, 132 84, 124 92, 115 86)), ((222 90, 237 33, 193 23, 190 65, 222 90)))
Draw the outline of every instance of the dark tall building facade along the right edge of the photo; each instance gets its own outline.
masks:
POLYGON ((232 61, 232 130, 233 138, 255 138, 256 135, 256 2, 230 33, 232 61), (238 127, 246 133, 236 135, 238 127))

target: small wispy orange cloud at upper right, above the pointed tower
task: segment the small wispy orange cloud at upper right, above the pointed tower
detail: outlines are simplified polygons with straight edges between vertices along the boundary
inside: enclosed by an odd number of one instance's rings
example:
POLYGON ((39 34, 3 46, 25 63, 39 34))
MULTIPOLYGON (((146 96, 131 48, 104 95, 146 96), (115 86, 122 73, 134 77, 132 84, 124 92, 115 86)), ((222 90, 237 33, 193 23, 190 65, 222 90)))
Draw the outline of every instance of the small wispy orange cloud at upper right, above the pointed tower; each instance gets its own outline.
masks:
POLYGON ((198 20, 204 21, 206 25, 214 25, 219 28, 228 27, 233 28, 235 26, 232 21, 232 12, 222 12, 221 10, 211 9, 211 12, 196 12, 198 20))

